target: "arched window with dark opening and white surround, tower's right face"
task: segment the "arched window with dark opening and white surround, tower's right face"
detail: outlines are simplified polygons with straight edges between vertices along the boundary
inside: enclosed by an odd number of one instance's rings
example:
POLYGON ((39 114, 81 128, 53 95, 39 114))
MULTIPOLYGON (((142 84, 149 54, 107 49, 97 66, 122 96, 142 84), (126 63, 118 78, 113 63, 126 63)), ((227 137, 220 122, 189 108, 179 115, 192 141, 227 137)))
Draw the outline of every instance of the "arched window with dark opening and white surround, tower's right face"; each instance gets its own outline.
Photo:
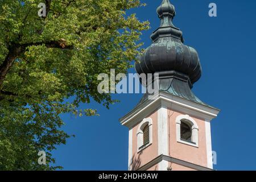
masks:
POLYGON ((179 115, 176 118, 176 140, 179 143, 198 147, 198 126, 189 115, 179 115))

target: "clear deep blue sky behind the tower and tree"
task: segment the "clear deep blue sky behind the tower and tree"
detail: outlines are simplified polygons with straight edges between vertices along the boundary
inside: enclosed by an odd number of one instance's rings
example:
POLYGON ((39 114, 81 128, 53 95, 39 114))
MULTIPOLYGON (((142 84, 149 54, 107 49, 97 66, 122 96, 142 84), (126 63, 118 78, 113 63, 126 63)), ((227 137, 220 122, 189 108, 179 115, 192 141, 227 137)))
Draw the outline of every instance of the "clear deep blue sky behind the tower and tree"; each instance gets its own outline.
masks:
MULTIPOLYGON (((141 36, 144 47, 159 26, 156 8, 161 0, 142 0, 146 7, 130 10, 151 29, 141 36)), ((256 1, 172 0, 174 24, 183 31, 185 44, 199 53, 203 75, 193 87, 202 101, 221 109, 212 121, 212 147, 218 170, 256 170, 256 1), (217 4, 217 17, 208 16, 208 5, 217 4)), ((134 69, 130 69, 134 73, 134 69)), ((110 110, 96 103, 100 117, 75 118, 64 114, 64 130, 75 134, 53 152, 65 170, 126 170, 128 130, 118 119, 134 108, 142 94, 114 94, 119 104, 110 110)))

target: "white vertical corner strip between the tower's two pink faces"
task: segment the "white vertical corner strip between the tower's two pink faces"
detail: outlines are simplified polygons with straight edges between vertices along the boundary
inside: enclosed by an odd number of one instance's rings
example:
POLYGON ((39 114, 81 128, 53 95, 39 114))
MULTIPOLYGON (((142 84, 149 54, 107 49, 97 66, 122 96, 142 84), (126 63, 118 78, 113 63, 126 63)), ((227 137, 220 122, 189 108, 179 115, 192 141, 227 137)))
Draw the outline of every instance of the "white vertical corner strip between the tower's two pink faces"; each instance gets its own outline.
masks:
POLYGON ((158 109, 158 155, 168 155, 167 107, 158 109))

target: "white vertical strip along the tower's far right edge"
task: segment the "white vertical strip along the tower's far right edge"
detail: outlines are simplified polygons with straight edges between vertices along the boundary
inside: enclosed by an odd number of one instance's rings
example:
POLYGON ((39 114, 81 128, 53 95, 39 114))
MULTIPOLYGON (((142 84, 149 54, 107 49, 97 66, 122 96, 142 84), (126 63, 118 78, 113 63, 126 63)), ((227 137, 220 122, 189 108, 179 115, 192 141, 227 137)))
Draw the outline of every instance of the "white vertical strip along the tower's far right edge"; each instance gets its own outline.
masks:
POLYGON ((207 167, 213 169, 213 159, 212 159, 212 137, 210 133, 210 122, 205 120, 205 137, 206 137, 206 147, 207 147, 207 167))

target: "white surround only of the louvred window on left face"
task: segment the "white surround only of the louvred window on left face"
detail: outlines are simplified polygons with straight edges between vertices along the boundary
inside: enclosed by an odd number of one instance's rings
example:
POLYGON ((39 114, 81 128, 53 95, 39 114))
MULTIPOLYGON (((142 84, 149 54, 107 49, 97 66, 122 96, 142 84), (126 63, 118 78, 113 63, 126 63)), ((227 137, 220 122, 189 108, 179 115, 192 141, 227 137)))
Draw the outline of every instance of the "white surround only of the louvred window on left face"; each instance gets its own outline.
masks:
POLYGON ((152 119, 151 118, 144 118, 143 121, 139 124, 138 130, 137 130, 137 152, 142 151, 144 148, 150 146, 152 144, 152 136, 153 136, 153 130, 152 130, 152 119), (150 135, 150 142, 143 146, 143 129, 144 127, 148 125, 149 126, 149 135, 150 135))

